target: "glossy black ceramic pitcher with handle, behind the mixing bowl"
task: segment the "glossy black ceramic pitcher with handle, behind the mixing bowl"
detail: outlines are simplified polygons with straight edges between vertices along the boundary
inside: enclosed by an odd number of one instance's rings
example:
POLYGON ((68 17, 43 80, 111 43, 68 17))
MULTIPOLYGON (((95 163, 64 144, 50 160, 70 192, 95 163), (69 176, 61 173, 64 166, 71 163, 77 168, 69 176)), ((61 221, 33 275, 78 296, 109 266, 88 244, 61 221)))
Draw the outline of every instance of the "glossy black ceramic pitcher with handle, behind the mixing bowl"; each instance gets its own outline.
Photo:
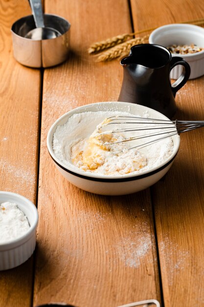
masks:
POLYGON ((141 44, 133 46, 120 64, 123 82, 118 101, 142 104, 172 118, 176 93, 190 76, 188 63, 179 56, 172 57, 162 46, 141 44), (182 74, 171 84, 170 72, 176 65, 183 66, 182 74))

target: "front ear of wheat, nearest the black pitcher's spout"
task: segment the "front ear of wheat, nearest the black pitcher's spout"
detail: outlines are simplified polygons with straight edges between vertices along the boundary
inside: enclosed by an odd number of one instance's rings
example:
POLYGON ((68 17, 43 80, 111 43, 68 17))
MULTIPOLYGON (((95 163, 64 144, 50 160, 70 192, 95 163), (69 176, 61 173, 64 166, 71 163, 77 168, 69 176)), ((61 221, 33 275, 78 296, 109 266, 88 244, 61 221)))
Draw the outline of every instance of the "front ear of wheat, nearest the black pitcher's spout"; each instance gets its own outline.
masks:
POLYGON ((114 46, 113 48, 99 54, 96 61, 97 62, 110 61, 116 57, 127 55, 129 54, 132 46, 137 45, 137 44, 146 43, 146 41, 148 40, 148 37, 149 35, 145 35, 143 37, 136 37, 136 38, 126 41, 125 43, 114 46))

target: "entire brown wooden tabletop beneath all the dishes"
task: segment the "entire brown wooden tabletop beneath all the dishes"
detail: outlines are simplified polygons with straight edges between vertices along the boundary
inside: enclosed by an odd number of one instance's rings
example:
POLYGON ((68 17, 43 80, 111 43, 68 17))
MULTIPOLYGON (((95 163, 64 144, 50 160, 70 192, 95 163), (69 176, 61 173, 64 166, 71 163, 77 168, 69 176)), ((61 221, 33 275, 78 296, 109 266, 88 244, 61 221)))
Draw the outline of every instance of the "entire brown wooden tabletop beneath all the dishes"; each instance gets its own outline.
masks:
MULTIPOLYGON (((122 197, 84 192, 66 181, 46 149, 51 124, 80 105, 116 101, 119 60, 96 63, 92 42, 204 17, 200 0, 45 0, 45 12, 71 23, 63 65, 23 67, 10 28, 30 14, 27 1, 0 1, 0 190, 38 207, 37 248, 0 272, 0 307, 66 302, 116 307, 157 299, 165 307, 204 306, 204 131, 181 136, 165 176, 122 197)), ((204 119, 204 77, 178 92, 177 118, 204 119)))

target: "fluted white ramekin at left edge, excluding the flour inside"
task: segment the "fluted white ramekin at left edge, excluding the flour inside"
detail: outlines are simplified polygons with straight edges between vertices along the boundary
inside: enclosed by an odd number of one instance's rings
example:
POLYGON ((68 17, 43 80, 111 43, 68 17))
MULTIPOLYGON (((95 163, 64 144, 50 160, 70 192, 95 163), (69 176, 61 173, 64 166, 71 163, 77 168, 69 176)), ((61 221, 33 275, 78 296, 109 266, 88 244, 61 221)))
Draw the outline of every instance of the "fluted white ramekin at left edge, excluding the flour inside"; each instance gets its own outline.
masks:
POLYGON ((36 245, 36 228, 38 211, 36 206, 25 197, 11 192, 0 191, 0 204, 16 203, 26 215, 30 224, 29 230, 20 238, 0 243, 0 270, 14 268, 25 262, 34 252, 36 245))

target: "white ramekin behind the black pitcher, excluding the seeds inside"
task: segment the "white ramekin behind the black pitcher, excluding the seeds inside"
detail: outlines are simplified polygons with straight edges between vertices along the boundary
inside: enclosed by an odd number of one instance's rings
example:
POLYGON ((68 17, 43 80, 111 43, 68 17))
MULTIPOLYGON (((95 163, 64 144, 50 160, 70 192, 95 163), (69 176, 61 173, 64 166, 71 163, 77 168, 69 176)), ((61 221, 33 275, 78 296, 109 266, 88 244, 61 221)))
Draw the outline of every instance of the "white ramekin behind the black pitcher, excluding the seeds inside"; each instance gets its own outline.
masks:
MULTIPOLYGON (((160 26, 149 36, 150 44, 158 44, 163 47, 176 45, 197 45, 204 47, 204 28, 190 24, 172 24, 160 26)), ((189 79, 204 75, 204 51, 189 54, 174 54, 172 56, 182 57, 191 68, 189 79)), ((177 65, 171 71, 171 78, 178 79, 182 72, 182 66, 177 65)))

